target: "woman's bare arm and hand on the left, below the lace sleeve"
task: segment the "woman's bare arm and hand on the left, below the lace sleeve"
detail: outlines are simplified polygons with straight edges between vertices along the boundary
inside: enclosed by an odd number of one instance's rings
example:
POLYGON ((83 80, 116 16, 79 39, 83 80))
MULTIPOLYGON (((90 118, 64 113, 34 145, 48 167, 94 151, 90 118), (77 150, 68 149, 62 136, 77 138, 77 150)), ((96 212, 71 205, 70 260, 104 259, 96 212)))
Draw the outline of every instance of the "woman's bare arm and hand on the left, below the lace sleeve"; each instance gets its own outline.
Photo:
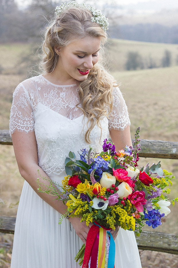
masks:
MULTIPOLYGON (((64 214, 67 206, 63 204, 63 201, 55 200, 54 196, 46 193, 38 192, 38 185, 36 183, 39 174, 39 169, 42 177, 47 177, 46 173, 38 166, 37 156, 37 144, 34 132, 28 134, 15 131, 12 134, 13 148, 17 159, 18 167, 22 177, 30 184, 33 190, 51 207, 57 210, 59 213, 64 214)), ((42 178, 39 178, 41 182, 44 182, 42 178)), ((48 184, 47 181, 45 181, 48 184)), ((89 227, 85 222, 80 222, 79 218, 69 218, 73 228, 76 230, 77 235, 86 243, 86 237, 89 231, 89 227)), ((91 226, 91 224, 90 224, 91 226)))

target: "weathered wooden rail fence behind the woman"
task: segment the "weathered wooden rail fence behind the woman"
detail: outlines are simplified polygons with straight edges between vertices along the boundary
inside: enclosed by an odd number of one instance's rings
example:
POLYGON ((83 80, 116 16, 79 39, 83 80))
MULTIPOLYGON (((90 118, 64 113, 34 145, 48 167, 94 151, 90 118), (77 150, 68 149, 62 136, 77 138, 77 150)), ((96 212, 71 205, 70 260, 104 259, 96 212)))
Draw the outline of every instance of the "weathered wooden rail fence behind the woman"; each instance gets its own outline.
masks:
MULTIPOLYGON (((0 144, 12 145, 8 130, 0 130, 0 144)), ((178 142, 142 139, 139 157, 178 159, 178 142)), ((16 218, 0 216, 0 232, 14 233, 16 218)), ((143 231, 136 237, 142 250, 155 250, 178 255, 178 234, 143 231)))

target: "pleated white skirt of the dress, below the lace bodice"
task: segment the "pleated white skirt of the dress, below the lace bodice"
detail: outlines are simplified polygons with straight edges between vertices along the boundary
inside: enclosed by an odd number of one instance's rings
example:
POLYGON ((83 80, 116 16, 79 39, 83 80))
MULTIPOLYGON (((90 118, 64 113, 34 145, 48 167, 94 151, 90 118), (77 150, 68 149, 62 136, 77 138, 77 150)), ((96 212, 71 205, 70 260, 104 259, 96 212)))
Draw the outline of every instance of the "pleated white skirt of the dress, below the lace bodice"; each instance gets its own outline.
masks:
MULTIPOLYGON (((67 219, 42 200, 25 181, 20 197, 11 268, 79 268, 74 257, 82 241, 67 219)), ((115 268, 141 268, 134 232, 119 229, 115 268)))

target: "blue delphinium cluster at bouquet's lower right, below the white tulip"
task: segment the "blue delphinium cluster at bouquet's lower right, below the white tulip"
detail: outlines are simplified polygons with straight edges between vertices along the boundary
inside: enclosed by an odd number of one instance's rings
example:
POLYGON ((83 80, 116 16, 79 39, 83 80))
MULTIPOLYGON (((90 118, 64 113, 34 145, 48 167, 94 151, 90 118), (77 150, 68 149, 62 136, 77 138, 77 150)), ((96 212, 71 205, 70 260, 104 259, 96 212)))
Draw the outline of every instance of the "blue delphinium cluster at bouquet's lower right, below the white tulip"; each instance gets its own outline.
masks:
POLYGON ((145 219, 147 219, 145 223, 148 224, 148 226, 152 226, 152 228, 156 228, 159 225, 161 225, 162 224, 161 218, 165 216, 164 213, 161 214, 156 209, 148 211, 148 213, 144 211, 144 214, 145 219))

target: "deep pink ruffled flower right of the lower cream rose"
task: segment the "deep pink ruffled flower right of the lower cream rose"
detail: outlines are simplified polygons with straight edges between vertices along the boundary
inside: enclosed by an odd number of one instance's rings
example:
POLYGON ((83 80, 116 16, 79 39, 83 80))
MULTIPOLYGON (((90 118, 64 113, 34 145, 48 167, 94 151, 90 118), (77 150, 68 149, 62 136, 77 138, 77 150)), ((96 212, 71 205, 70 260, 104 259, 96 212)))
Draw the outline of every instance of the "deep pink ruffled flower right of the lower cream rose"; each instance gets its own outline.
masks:
POLYGON ((136 210, 143 212, 143 205, 146 204, 144 191, 135 191, 128 196, 128 199, 136 207, 136 210))

